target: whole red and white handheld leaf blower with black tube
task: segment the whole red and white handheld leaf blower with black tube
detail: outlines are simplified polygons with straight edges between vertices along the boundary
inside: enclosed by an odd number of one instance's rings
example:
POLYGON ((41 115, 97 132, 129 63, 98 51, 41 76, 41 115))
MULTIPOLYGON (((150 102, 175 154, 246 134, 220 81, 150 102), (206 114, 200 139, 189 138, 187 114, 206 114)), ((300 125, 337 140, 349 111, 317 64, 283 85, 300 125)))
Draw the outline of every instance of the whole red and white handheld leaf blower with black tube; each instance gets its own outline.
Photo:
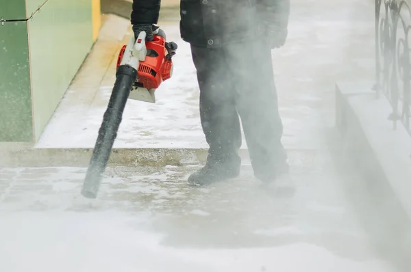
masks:
POLYGON ((119 53, 116 82, 103 115, 82 188, 82 195, 86 198, 97 198, 127 100, 155 103, 155 90, 173 74, 171 59, 175 55, 177 44, 166 42, 162 29, 156 29, 153 34, 153 40, 147 42, 145 31, 137 39, 132 36, 119 53))

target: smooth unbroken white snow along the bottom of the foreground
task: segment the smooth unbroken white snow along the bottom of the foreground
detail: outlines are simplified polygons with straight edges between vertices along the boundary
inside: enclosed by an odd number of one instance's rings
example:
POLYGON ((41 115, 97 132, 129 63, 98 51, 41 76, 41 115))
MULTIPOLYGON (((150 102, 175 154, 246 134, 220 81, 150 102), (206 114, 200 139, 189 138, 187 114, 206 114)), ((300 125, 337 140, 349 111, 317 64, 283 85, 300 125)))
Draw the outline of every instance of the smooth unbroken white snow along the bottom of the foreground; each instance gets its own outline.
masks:
POLYGON ((338 258, 322 247, 292 243, 269 248, 176 249, 120 213, 0 214, 0 271, 316 271, 383 272, 375 260, 338 258), (108 220, 110 218, 110 220, 108 220), (26 228, 30 226, 30 228, 26 228))

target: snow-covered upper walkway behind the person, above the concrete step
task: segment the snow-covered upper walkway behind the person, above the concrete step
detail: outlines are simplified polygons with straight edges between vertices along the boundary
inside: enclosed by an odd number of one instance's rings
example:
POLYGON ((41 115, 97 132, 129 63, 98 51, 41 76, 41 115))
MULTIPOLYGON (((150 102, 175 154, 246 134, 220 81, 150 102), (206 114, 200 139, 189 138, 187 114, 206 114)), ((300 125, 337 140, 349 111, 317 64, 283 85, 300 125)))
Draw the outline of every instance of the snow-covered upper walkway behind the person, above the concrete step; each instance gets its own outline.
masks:
MULTIPOLYGON (((355 74, 353 61, 358 62, 347 56, 353 51, 350 36, 364 26, 371 30, 373 27, 363 14, 364 4, 315 3, 293 3, 286 46, 273 51, 283 141, 288 149, 323 147, 323 129, 334 124, 334 84, 343 74, 355 74)), ((160 25, 169 40, 179 45, 173 77, 156 92, 158 102, 154 105, 129 100, 114 148, 207 148, 189 45, 179 38, 177 21, 160 25)), ((94 146, 115 81, 116 57, 129 35, 128 21, 107 17, 95 49, 36 148, 94 146)), ((369 62, 365 59, 360 65, 367 66, 369 62)), ((243 148, 247 148, 243 143, 243 148)))

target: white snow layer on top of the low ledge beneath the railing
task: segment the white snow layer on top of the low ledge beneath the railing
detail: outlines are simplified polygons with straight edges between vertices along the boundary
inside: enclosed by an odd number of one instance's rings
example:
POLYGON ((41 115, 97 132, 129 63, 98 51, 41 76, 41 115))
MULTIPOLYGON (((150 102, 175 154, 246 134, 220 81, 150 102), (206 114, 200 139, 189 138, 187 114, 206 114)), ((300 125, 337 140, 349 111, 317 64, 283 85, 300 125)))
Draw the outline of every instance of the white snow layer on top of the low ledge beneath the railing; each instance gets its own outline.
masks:
MULTIPOLYGON (((360 84, 358 84, 361 86, 360 84)), ((358 116, 358 122, 382 165, 382 172, 389 180, 404 209, 411 216, 411 137, 401 120, 397 128, 393 122, 379 122, 387 119, 393 109, 385 98, 375 98, 375 94, 362 94, 348 99, 348 103, 358 116), (376 111, 376 109, 378 109, 376 111)))

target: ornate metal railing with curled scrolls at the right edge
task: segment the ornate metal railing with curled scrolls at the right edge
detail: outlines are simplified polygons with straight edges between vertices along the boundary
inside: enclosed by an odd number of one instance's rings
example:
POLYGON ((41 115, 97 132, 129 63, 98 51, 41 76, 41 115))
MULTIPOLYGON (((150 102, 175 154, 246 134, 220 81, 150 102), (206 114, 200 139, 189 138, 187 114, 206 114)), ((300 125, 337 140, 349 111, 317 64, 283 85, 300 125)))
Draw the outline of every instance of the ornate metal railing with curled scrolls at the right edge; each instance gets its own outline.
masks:
POLYGON ((377 96, 393 107, 394 128, 403 122, 408 132, 411 109, 411 0, 375 0, 377 96))

